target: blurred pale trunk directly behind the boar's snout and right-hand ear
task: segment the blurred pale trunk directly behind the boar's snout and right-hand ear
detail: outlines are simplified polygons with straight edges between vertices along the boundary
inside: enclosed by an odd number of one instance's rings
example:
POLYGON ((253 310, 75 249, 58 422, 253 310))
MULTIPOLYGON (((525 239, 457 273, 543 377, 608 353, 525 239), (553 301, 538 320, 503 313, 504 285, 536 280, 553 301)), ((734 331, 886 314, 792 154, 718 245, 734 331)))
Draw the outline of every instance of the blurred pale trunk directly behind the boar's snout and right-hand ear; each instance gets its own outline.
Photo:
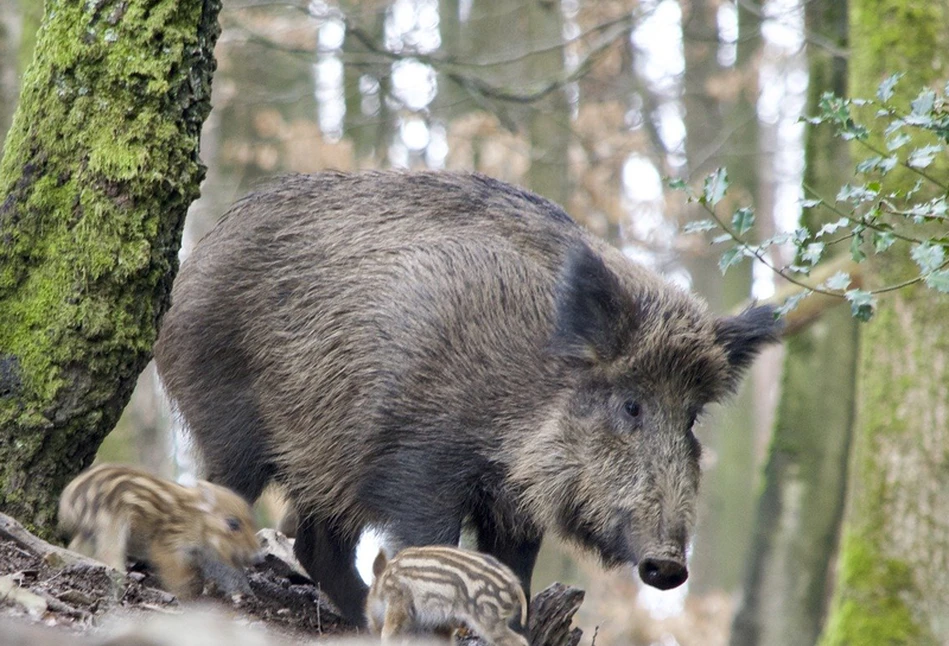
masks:
MULTIPOLYGON (((758 23, 742 23, 736 71, 748 79, 731 96, 715 96, 711 88, 729 70, 716 57, 719 46, 717 7, 700 0, 680 2, 683 8, 686 157, 693 183, 716 167, 727 165, 737 196, 733 204, 756 201, 759 170, 768 163, 758 154, 757 69, 758 23)), ((696 218, 707 217, 695 211, 696 218)), ((762 213, 760 218, 770 217, 762 213)), ((745 263, 724 276, 714 254, 689 262, 694 286, 716 311, 747 300, 751 268, 745 263)), ((757 477, 754 451, 754 390, 750 380, 727 406, 710 411, 699 435, 715 456, 702 486, 702 507, 692 557, 691 590, 705 592, 738 587, 752 527, 757 477)))

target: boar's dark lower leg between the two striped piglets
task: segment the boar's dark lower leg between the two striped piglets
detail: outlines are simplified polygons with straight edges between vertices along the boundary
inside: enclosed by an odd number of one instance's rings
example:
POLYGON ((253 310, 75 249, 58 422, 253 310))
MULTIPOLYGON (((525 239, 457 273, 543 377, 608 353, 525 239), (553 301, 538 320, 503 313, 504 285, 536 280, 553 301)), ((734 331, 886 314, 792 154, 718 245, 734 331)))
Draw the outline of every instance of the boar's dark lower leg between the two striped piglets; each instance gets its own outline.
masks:
POLYGON ((300 564, 352 624, 365 627, 368 588, 356 570, 356 542, 326 522, 301 514, 293 545, 300 564))

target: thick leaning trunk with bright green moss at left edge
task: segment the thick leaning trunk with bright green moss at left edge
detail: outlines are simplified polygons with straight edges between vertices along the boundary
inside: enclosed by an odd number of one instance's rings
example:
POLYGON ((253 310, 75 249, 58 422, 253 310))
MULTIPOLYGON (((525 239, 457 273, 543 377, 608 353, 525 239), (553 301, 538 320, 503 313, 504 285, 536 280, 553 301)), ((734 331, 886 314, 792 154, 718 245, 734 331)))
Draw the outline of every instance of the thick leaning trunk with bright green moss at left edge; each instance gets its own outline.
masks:
POLYGON ((151 356, 219 0, 47 0, 0 162, 0 510, 48 534, 151 356))

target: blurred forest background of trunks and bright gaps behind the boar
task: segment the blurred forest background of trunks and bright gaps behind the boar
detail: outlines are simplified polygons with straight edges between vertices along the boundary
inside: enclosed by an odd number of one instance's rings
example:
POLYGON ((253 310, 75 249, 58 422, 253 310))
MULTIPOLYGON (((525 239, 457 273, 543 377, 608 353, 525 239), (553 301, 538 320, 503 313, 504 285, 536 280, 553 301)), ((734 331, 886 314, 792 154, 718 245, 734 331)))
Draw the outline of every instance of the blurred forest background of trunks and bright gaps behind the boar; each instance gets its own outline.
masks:
MULTIPOLYGON (((0 134, 41 4, 0 0, 0 134)), ((822 92, 847 91, 847 4, 225 0, 202 138, 208 176, 181 258, 232 201, 280 173, 476 169, 563 204, 715 311, 768 298, 781 287, 769 270, 746 262, 723 277, 719 250, 678 234, 706 216, 663 178, 697 184, 727 166, 726 200, 755 205, 762 238, 798 226, 805 177, 832 197, 852 172, 847 146, 801 117, 822 92)), ((915 4, 946 24, 946 2, 915 4)), ((930 18, 907 9, 894 20, 913 41, 907 24, 930 18)), ((868 94, 897 71, 863 69, 868 94)), ((945 68, 926 73, 939 80, 945 68)), ((601 646, 815 643, 841 532, 857 338, 846 306, 825 313, 702 420, 701 515, 685 586, 642 588, 632 571, 605 573, 551 541, 534 589, 561 580, 587 590, 585 643, 595 628, 601 646)), ((150 367, 100 456, 186 474, 186 443, 172 427, 150 367)))

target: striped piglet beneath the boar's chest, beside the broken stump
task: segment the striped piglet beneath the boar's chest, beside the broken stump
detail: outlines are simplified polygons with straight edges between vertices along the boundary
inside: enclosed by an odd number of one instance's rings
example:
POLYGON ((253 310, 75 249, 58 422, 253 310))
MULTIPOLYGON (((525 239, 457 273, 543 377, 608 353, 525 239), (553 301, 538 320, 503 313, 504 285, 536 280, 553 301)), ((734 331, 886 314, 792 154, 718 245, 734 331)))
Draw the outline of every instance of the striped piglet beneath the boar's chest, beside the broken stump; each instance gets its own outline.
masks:
POLYGON ((380 551, 366 598, 369 630, 389 640, 462 626, 493 646, 527 646, 527 599, 510 568, 457 547, 410 547, 386 561, 380 551))

